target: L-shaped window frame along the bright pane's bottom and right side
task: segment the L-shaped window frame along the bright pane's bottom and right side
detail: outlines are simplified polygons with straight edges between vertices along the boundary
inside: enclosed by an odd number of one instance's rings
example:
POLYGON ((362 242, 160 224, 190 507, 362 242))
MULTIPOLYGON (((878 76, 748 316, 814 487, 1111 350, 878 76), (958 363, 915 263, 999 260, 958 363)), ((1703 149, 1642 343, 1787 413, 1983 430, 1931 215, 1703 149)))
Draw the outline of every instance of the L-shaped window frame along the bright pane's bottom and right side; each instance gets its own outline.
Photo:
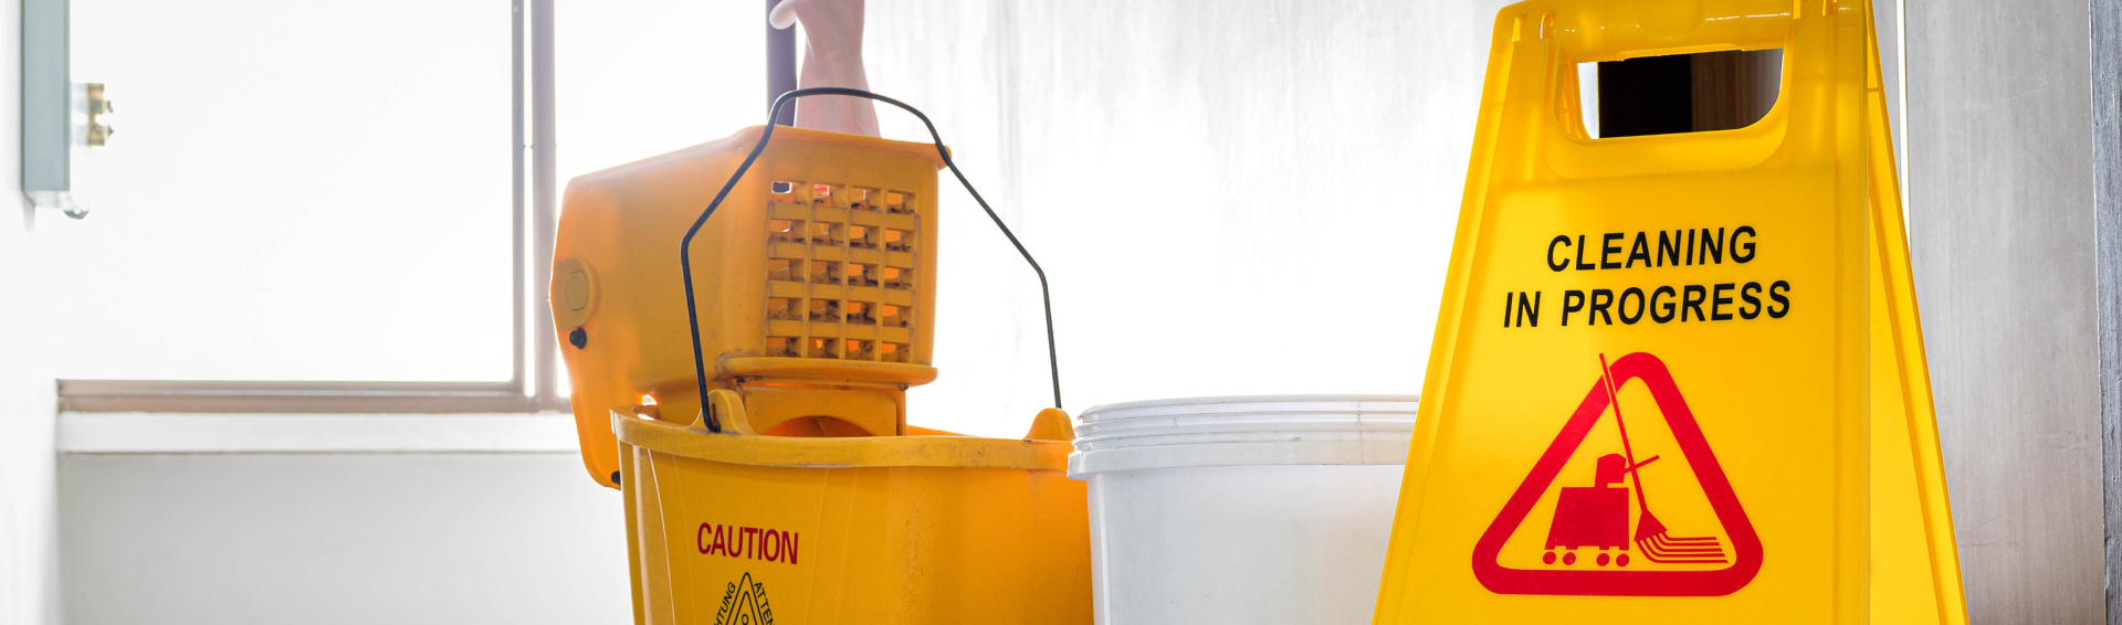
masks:
POLYGON ((509 0, 514 153, 514 367, 507 381, 59 379, 70 413, 537 413, 567 411, 545 307, 558 214, 554 6, 509 0))

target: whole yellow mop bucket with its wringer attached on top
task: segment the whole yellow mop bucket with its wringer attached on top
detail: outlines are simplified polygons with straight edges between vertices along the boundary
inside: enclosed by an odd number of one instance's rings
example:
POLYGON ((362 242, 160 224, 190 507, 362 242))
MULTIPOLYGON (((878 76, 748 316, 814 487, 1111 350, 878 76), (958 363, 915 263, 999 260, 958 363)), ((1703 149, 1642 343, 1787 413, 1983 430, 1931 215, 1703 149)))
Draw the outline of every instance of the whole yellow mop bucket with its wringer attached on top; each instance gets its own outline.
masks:
POLYGON ((1067 415, 906 424, 936 379, 936 146, 775 129, 690 244, 696 375, 679 242, 762 131, 567 189, 552 311, 634 621, 1091 623, 1067 415))

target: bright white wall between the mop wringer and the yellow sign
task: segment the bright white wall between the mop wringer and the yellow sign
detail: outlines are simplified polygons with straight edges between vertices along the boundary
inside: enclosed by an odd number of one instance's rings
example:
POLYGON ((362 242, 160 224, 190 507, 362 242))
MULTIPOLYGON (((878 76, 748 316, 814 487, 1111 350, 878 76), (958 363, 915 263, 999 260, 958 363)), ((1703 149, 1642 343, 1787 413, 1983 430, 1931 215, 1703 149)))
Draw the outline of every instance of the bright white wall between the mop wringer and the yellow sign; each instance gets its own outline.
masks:
MULTIPOLYGON (((1046 265, 1072 411, 1413 394, 1502 4, 870 2, 866 55, 1046 265)), ((1050 403, 1036 282, 942 189, 942 377, 910 417, 1014 436, 1050 403)))

